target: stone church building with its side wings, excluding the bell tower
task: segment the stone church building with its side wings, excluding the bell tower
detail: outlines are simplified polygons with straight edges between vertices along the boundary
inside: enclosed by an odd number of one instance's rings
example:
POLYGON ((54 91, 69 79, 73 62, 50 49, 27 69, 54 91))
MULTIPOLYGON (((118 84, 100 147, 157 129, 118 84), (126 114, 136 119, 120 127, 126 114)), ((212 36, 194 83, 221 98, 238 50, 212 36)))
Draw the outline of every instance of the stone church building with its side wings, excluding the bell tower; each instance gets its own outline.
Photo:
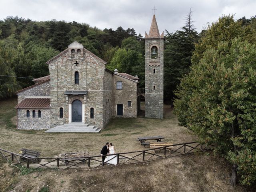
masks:
POLYGON ((46 62, 49 76, 17 92, 17 128, 88 124, 104 128, 112 117, 137 117, 138 78, 105 68, 106 62, 73 42, 46 62))

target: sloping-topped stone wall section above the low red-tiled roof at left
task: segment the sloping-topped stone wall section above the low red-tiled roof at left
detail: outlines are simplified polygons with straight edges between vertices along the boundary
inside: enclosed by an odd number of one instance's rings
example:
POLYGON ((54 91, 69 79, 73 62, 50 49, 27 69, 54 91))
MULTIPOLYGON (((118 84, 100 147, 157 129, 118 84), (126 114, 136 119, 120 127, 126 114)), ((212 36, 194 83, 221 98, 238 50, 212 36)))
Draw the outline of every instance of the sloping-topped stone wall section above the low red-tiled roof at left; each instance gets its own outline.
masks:
POLYGON ((26 96, 50 96, 50 81, 19 92, 17 95, 18 104, 22 102, 26 96))

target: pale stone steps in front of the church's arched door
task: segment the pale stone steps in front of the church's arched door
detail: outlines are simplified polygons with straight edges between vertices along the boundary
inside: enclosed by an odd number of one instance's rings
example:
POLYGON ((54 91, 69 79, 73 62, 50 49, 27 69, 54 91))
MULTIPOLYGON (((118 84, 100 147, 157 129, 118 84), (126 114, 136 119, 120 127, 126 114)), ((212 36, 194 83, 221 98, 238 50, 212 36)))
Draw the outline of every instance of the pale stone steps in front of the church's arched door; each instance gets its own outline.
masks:
POLYGON ((59 125, 54 128, 51 128, 46 133, 53 133, 53 132, 66 132, 66 133, 73 133, 73 132, 87 132, 87 133, 98 133, 100 132, 101 128, 95 125, 89 125, 86 123, 68 123, 64 125, 59 125))

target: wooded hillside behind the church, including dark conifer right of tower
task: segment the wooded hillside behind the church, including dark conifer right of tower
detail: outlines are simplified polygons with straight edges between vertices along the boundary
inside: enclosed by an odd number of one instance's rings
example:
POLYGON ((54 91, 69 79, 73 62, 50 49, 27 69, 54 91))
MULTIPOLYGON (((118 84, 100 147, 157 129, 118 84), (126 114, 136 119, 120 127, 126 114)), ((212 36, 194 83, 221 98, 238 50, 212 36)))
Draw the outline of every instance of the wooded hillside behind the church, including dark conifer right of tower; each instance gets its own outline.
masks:
MULTIPOLYGON (((172 102, 179 78, 188 72, 199 35, 191 20, 175 33, 165 31, 164 100, 172 102)), ((32 85, 33 78, 49 74, 50 58, 78 41, 108 64, 106 68, 138 75, 144 87, 144 39, 133 28, 100 30, 89 24, 50 20, 32 21, 8 16, 0 20, 0 98, 32 85)))

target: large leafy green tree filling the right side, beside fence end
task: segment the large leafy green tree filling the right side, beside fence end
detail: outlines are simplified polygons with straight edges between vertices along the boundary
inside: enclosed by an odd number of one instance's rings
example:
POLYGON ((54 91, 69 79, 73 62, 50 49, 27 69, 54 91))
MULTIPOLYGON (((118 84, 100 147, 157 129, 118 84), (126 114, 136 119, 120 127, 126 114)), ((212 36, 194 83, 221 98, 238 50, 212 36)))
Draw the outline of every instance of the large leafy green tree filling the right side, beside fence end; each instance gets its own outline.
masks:
POLYGON ((235 38, 243 31, 241 23, 230 16, 208 28, 174 102, 174 113, 198 141, 215 144, 214 154, 222 154, 233 164, 232 185, 236 172, 242 184, 256 182, 256 47, 235 38), (222 41, 216 45, 213 37, 222 41))

